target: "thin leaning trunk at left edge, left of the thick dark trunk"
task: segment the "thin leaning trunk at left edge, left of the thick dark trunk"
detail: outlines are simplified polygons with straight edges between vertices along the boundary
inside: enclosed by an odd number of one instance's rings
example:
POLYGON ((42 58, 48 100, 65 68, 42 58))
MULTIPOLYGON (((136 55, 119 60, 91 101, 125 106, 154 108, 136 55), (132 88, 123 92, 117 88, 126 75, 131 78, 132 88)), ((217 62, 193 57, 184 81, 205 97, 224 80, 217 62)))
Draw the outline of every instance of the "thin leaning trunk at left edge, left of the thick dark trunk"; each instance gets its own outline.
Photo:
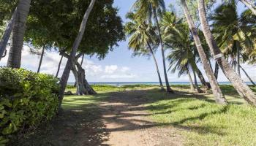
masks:
POLYGON ((3 58, 3 56, 4 56, 4 52, 6 51, 8 41, 9 41, 10 36, 12 34, 12 28, 13 28, 13 25, 14 25, 14 22, 15 22, 15 19, 16 19, 16 15, 17 15, 17 8, 12 13, 12 18, 10 20, 10 23, 8 23, 8 26, 5 29, 4 35, 3 35, 2 39, 1 39, 1 42, 0 42, 0 61, 1 61, 1 58, 3 58))

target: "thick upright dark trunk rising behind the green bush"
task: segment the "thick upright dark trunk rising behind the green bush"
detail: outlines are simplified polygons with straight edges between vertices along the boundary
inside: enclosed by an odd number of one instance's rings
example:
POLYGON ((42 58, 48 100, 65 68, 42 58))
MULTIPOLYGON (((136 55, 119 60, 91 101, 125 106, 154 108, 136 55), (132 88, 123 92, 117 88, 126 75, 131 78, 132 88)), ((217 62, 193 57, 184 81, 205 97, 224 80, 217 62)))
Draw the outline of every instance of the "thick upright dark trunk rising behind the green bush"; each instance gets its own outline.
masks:
POLYGON ((31 0, 19 0, 17 15, 12 29, 12 42, 7 67, 20 68, 21 51, 26 31, 26 21, 29 15, 31 0))

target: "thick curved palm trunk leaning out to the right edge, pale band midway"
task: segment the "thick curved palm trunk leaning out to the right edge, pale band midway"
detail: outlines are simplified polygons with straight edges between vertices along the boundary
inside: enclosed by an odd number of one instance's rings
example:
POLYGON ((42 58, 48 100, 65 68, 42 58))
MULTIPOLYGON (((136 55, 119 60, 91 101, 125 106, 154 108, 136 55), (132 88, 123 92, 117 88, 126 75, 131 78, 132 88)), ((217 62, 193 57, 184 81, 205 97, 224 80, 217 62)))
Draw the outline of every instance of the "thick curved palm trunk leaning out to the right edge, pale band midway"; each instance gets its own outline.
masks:
POLYGON ((256 105, 256 96, 255 93, 246 85, 243 80, 236 74, 236 72, 231 68, 230 64, 225 60, 224 55, 217 45, 217 42, 214 40, 214 36, 211 34, 211 30, 208 26, 208 22, 206 19, 206 9, 204 5, 204 0, 198 1, 198 9, 199 9, 199 18, 202 26, 203 34, 206 37, 206 42, 210 47, 211 53, 214 55, 214 58, 217 60, 220 68, 226 75, 226 77, 233 84, 236 91, 246 100, 249 104, 256 105))

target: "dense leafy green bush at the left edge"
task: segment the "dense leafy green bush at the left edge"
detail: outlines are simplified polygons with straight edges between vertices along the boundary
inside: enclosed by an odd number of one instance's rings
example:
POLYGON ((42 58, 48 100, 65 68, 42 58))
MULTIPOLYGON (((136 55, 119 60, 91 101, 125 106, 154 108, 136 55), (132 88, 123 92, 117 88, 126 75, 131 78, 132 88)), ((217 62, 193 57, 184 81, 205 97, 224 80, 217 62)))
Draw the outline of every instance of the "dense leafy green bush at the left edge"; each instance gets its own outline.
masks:
POLYGON ((12 134, 56 115, 58 82, 48 74, 0 68, 0 145, 12 134))

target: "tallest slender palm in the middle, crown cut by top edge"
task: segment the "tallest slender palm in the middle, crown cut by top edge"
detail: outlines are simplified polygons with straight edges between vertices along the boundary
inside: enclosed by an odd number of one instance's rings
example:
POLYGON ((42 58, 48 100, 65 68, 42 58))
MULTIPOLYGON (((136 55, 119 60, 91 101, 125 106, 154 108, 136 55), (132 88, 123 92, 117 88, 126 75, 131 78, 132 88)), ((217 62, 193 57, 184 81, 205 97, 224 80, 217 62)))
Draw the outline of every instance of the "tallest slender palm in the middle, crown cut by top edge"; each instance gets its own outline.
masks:
POLYGON ((165 64, 165 46, 162 42, 162 34, 159 26, 159 15, 162 15, 162 12, 165 12, 165 1, 164 0, 136 0, 133 5, 135 11, 138 13, 138 16, 142 20, 148 20, 148 23, 151 23, 152 18, 154 18, 155 23, 157 24, 157 31, 159 42, 162 51, 162 63, 164 66, 164 74, 165 74, 165 83, 167 92, 174 93, 170 88, 170 84, 167 77, 166 64, 165 64))

